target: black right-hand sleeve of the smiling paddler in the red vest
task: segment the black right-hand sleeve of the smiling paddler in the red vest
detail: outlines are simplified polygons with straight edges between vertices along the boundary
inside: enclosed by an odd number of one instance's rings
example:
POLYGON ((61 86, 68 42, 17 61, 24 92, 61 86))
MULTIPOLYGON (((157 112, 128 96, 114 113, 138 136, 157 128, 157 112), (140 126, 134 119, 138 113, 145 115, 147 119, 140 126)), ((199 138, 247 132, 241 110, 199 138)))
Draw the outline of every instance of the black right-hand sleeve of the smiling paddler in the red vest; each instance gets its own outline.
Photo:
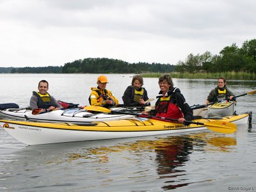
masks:
POLYGON ((175 92, 174 99, 181 109, 185 120, 191 121, 193 118, 193 110, 189 107, 189 104, 186 102, 184 96, 180 92, 175 92))

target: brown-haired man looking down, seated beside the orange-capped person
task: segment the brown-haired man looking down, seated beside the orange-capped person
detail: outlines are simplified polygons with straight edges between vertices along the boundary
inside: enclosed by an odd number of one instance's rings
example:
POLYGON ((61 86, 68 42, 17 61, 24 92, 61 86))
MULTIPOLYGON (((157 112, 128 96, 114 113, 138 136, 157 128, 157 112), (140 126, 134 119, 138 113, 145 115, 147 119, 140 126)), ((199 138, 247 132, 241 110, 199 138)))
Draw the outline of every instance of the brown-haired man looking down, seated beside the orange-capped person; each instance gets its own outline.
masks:
POLYGON ((148 106, 150 103, 145 104, 148 100, 148 93, 143 86, 143 78, 140 75, 132 77, 132 83, 128 86, 122 97, 124 106, 136 107, 136 106, 148 106))

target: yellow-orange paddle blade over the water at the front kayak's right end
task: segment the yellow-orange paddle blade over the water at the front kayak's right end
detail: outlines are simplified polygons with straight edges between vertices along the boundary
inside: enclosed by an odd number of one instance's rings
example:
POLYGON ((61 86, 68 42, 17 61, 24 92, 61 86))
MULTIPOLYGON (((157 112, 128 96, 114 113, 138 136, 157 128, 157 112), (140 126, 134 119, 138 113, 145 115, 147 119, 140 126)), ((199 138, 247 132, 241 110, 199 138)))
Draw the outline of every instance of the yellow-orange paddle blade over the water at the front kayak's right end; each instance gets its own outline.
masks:
POLYGON ((236 132, 237 126, 236 124, 230 122, 223 122, 223 121, 213 121, 204 123, 207 129, 215 132, 222 132, 222 133, 233 133, 236 132))

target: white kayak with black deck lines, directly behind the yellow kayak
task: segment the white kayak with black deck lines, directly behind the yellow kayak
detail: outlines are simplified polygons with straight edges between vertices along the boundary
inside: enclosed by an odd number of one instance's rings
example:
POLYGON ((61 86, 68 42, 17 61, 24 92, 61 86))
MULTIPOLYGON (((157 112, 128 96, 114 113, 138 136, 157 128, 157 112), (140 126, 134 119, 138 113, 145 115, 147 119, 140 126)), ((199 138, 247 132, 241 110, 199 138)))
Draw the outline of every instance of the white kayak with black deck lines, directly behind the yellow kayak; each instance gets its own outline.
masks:
POLYGON ((32 115, 31 109, 4 109, 0 110, 0 115, 4 118, 15 120, 34 120, 42 122, 66 122, 66 123, 83 123, 83 122, 106 122, 111 120, 120 120, 134 117, 133 115, 123 114, 106 114, 106 113, 89 113, 84 109, 59 109, 48 113, 32 115))

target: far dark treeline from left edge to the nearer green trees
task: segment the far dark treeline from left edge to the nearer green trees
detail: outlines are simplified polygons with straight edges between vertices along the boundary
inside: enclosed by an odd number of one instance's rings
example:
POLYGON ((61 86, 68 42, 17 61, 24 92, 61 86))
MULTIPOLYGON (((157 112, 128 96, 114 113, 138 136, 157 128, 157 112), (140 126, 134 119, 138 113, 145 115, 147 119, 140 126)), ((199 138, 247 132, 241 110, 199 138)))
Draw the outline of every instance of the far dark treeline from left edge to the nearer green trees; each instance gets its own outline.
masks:
POLYGON ((0 68, 0 73, 19 74, 49 74, 49 73, 90 73, 90 74, 120 74, 120 73, 142 73, 142 72, 175 72, 175 65, 161 63, 128 63, 122 60, 108 58, 86 58, 65 63, 64 67, 8 67, 0 68))

